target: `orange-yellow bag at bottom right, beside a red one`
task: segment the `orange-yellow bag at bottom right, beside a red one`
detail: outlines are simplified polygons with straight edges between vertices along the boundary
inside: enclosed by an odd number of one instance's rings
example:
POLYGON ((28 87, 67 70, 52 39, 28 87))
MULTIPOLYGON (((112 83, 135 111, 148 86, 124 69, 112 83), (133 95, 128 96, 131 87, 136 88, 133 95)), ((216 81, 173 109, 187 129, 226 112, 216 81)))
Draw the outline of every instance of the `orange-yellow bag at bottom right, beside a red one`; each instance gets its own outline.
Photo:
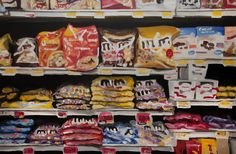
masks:
POLYGON ((217 143, 215 139, 199 139, 202 144, 203 154, 217 154, 217 143))

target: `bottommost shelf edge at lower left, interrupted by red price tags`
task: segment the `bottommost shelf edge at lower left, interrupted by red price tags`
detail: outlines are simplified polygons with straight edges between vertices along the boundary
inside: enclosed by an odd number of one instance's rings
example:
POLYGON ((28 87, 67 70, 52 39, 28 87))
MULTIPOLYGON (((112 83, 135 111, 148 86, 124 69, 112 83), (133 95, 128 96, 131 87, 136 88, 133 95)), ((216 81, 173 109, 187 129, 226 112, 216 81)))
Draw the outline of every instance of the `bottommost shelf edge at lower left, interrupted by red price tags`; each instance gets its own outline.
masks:
MULTIPOLYGON (((101 146, 77 146, 78 151, 101 151, 102 148, 112 148, 116 151, 133 151, 139 152, 142 147, 140 145, 103 145, 101 146), (88 150, 89 149, 89 150, 88 150)), ((152 151, 174 152, 173 147, 149 146, 152 151)), ((34 144, 12 144, 0 145, 0 151, 24 151, 26 148, 32 148, 34 151, 64 151, 63 145, 34 145, 34 144)))

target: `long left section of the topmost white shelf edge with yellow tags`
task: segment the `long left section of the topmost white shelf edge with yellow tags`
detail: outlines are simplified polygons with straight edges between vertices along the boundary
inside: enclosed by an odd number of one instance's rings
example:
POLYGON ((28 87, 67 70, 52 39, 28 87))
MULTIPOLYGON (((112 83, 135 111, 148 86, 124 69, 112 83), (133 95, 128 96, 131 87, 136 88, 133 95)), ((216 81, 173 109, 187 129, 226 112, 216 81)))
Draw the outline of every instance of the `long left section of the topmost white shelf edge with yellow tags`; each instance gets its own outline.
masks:
POLYGON ((144 18, 144 17, 162 17, 162 18, 173 18, 175 10, 27 10, 27 11, 9 11, 10 17, 65 17, 65 18, 77 18, 77 17, 88 17, 103 19, 105 17, 133 17, 133 18, 144 18))

